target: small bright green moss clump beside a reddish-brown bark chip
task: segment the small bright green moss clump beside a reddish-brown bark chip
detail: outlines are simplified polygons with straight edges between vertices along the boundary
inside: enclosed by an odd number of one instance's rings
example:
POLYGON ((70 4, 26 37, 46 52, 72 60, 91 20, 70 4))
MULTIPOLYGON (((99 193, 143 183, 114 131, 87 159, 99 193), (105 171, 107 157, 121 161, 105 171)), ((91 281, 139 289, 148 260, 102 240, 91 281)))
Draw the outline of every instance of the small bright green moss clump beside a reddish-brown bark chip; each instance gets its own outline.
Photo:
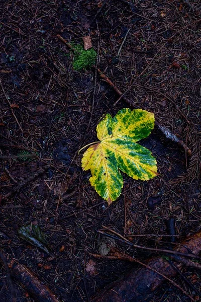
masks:
POLYGON ((74 70, 81 70, 86 67, 91 67, 96 60, 97 53, 93 48, 84 50, 82 45, 71 44, 74 51, 73 68, 74 70))

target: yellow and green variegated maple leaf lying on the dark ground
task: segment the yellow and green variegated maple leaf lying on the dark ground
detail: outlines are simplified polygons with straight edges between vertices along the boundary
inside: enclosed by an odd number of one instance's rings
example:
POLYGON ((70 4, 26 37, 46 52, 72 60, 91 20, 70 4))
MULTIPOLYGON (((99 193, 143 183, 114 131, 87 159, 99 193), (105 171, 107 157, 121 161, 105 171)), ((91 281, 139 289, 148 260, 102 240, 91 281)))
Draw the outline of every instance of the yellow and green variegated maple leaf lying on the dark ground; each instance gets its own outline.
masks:
POLYGON ((154 127, 154 114, 142 109, 107 114, 97 125, 98 142, 82 157, 82 169, 91 170, 90 183, 110 204, 120 196, 123 177, 120 170, 138 180, 157 175, 157 163, 150 150, 136 143, 154 127))

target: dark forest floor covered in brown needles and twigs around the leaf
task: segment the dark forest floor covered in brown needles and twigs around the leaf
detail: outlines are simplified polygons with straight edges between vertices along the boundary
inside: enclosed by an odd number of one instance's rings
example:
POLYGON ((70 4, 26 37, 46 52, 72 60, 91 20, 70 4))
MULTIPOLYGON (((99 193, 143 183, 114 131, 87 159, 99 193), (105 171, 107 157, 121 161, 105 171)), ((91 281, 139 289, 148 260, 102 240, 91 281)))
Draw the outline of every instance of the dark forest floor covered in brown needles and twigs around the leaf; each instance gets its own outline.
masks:
MULTIPOLYGON (((90 255, 100 254, 106 243, 97 233, 103 225, 122 236, 144 235, 129 239, 154 248, 171 247, 163 237, 170 218, 176 241, 201 228, 199 2, 3 2, 0 232, 8 240, 0 236, 1 247, 64 302, 89 302, 135 265, 90 255), (108 206, 91 187, 90 171, 82 171, 83 153, 77 151, 97 140, 96 125, 104 114, 114 116, 129 106, 123 98, 117 102, 119 96, 99 74, 95 78, 93 68, 75 71, 73 51, 57 34, 75 44, 90 35, 100 70, 134 107, 153 112, 182 139, 191 156, 155 127, 140 144, 156 158, 159 175, 143 182, 123 174, 122 194, 108 206), (157 197, 153 207, 150 197, 157 197), (19 237, 19 228, 30 223, 40 227, 55 257, 19 237)), ((141 261, 153 255, 121 242, 116 247, 141 261)), ((184 275, 201 289, 199 271, 184 275)), ((182 279, 174 281, 193 296, 182 279)), ((32 301, 26 289, 15 281, 14 286, 17 301, 32 301)), ((5 268, 0 295, 3 302, 12 300, 5 268)), ((166 282, 152 301, 190 299, 166 282)))

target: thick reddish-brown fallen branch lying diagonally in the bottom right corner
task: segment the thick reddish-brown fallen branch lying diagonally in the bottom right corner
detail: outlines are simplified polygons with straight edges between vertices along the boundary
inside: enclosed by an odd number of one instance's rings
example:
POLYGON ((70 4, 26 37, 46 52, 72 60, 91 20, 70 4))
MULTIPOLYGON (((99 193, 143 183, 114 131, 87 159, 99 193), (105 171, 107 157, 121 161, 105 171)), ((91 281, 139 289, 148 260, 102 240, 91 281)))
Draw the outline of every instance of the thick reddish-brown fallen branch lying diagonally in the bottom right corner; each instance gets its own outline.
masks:
MULTIPOLYGON (((198 255, 201 252, 201 232, 186 239, 175 248, 175 251, 186 253, 186 248, 193 254, 198 255)), ((160 257, 153 257, 146 263, 152 269, 160 272, 172 279, 176 275, 173 267, 160 257)), ((177 268, 183 267, 183 264, 176 265, 177 268)), ((117 281, 109 284, 100 295, 92 299, 92 302, 143 302, 149 301, 156 289, 161 286, 165 279, 156 272, 140 267, 132 269, 127 275, 120 277, 117 281)))

